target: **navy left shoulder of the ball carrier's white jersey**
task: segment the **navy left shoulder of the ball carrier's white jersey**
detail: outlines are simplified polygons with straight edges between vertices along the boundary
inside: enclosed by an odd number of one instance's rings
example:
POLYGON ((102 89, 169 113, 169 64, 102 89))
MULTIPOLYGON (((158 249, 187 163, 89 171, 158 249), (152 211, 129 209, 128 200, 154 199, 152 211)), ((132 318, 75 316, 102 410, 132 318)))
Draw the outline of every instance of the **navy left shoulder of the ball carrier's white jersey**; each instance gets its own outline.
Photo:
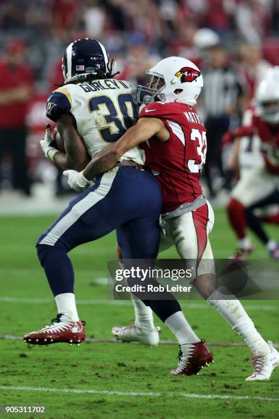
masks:
POLYGON ((51 92, 47 99, 47 117, 54 122, 62 114, 70 114, 72 109, 72 97, 66 86, 51 92))

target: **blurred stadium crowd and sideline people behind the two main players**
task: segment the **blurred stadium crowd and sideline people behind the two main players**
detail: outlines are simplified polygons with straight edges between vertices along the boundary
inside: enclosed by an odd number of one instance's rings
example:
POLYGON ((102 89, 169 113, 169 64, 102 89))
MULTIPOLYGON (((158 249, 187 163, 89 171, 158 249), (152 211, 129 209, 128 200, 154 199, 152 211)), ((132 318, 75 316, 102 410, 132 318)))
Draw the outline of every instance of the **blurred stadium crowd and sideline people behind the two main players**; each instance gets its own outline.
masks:
MULTIPOLYGON (((77 38, 103 42, 117 77, 142 84, 161 58, 180 55, 204 75, 198 103, 208 129, 208 194, 230 190, 222 135, 241 123, 270 66, 279 65, 278 0, 0 0, 0 186, 29 196, 61 174, 43 158, 45 102, 63 83, 61 59, 77 38)), ((1 191, 0 191, 1 193, 1 191)))

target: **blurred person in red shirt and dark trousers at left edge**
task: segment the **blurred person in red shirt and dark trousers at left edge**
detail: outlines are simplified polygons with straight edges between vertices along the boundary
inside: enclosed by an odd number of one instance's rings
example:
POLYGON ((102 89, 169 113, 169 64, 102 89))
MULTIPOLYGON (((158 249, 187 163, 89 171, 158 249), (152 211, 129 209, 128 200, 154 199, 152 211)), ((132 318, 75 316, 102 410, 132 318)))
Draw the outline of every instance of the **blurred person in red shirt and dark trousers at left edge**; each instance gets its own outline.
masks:
POLYGON ((10 151, 12 186, 27 195, 30 194, 30 183, 26 165, 25 116, 32 87, 32 71, 25 64, 25 43, 14 40, 0 60, 0 162, 3 153, 10 151))

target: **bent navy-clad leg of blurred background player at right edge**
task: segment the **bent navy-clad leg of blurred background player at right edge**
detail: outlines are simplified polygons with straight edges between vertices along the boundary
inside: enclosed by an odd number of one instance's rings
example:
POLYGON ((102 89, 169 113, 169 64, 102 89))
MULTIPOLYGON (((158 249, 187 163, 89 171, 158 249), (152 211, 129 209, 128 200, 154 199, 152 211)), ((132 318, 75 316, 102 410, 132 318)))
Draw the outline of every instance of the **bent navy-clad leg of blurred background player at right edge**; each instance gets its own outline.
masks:
POLYGON ((267 251, 275 259, 279 259, 279 245, 275 240, 272 240, 267 235, 266 231, 262 227, 261 220, 256 216, 255 210, 267 207, 268 205, 279 203, 279 191, 276 189, 269 196, 264 199, 261 199, 245 210, 245 217, 248 222, 249 228, 254 231, 256 236, 267 246, 267 251))

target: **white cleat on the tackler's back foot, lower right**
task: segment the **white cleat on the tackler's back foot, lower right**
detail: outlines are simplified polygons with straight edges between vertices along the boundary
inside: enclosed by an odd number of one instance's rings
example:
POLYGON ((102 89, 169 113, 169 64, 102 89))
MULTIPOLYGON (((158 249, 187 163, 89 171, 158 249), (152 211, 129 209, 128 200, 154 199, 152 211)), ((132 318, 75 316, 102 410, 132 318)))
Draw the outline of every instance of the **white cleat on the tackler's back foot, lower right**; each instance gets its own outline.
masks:
POLYGON ((245 381, 268 381, 274 368, 279 365, 279 352, 276 351, 271 340, 267 343, 269 344, 270 352, 261 355, 253 354, 254 371, 245 381))

